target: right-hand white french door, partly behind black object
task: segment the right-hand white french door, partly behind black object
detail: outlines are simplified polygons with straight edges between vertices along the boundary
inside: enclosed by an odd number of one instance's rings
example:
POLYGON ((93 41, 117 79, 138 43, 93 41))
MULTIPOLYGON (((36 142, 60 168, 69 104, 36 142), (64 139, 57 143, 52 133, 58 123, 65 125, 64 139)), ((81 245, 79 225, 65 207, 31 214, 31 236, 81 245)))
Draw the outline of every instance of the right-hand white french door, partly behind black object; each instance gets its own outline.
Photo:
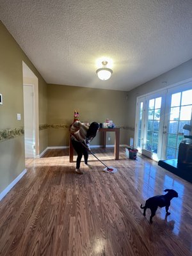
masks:
POLYGON ((184 84, 167 90, 166 113, 164 124, 166 130, 163 141, 163 159, 177 159, 180 141, 189 131, 183 129, 192 120, 192 84, 184 84))

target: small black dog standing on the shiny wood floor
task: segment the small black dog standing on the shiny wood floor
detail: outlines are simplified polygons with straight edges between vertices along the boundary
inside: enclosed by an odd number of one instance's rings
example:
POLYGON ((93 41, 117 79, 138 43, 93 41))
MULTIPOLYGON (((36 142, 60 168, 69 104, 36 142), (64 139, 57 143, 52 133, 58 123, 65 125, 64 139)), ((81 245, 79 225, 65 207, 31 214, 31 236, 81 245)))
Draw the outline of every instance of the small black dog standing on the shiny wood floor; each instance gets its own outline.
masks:
POLYGON ((170 215, 170 212, 168 212, 168 209, 170 207, 171 200, 173 197, 178 197, 178 193, 173 189, 165 189, 164 192, 168 192, 168 193, 166 193, 166 195, 153 196, 148 198, 148 200, 145 202, 145 206, 142 206, 141 204, 141 209, 144 209, 143 211, 144 216, 147 208, 149 208, 151 211, 150 223, 153 222, 152 218, 156 215, 158 206, 161 208, 165 207, 166 214, 170 215))

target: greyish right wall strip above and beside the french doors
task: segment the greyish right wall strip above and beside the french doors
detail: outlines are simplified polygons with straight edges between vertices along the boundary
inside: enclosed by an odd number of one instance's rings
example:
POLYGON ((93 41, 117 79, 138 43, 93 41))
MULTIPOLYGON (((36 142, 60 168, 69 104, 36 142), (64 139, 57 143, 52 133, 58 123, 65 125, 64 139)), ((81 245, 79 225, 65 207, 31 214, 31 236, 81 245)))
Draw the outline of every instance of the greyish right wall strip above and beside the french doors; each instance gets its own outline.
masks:
MULTIPOLYGON (((156 90, 163 89, 166 86, 179 83, 192 77, 192 60, 186 61, 176 68, 156 77, 155 79, 138 86, 134 90, 128 93, 128 108, 130 111, 127 112, 127 119, 131 124, 135 123, 136 115, 136 98, 145 95, 156 90), (166 82, 166 83, 164 83, 166 82)), ((134 128, 134 126, 132 127, 134 128)), ((134 137, 134 131, 129 130, 128 137, 134 137)))

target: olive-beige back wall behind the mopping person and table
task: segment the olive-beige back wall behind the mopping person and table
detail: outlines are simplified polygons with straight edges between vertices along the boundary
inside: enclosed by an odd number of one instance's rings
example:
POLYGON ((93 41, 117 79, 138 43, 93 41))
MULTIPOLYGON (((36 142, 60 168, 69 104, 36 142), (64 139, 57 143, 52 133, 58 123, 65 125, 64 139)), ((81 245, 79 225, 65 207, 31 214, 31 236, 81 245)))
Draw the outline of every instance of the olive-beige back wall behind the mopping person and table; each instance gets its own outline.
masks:
MULTIPOLYGON (((100 90, 77 86, 48 85, 48 124, 65 125, 49 128, 49 146, 68 146, 68 126, 74 119, 74 109, 79 109, 81 122, 105 122, 106 118, 122 127, 120 144, 127 144, 127 92, 100 90)), ((109 133, 114 144, 114 134, 109 133)), ((97 135, 92 145, 100 145, 97 135)))

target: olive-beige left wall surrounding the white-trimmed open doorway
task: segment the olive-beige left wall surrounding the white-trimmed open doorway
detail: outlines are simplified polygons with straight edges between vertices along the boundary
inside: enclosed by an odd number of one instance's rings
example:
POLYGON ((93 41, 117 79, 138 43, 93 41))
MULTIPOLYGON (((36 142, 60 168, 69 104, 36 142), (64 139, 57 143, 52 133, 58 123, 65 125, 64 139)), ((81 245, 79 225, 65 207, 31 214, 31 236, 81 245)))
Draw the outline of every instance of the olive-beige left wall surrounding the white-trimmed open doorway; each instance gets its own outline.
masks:
MULTIPOLYGON (((3 105, 0 105, 1 193, 25 169, 22 61, 38 77, 40 124, 47 122, 47 84, 1 21, 0 38, 0 93, 3 95, 3 105), (16 118, 17 113, 21 114, 20 121, 16 118), (18 135, 14 133, 15 129, 20 131, 18 135), (2 138, 4 134, 8 135, 8 131, 12 132, 13 138, 2 138)), ((42 137, 40 136, 40 147, 43 141, 45 148, 46 141, 42 137)))

